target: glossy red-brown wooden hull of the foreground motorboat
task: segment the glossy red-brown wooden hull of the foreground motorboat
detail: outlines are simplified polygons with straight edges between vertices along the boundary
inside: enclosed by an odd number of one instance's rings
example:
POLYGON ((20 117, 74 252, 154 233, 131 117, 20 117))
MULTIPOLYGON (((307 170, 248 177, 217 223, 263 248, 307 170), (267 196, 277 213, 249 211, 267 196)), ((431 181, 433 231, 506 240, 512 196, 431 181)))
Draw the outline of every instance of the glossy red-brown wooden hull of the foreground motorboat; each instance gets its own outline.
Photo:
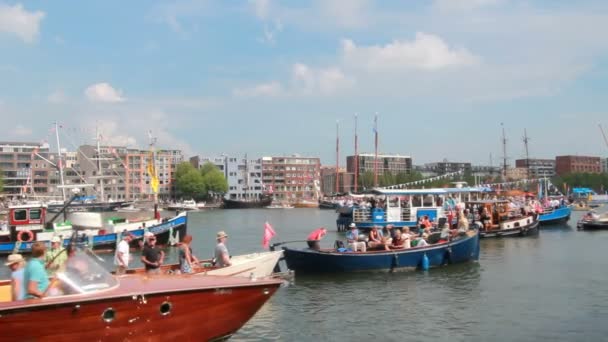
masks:
MULTIPOLYGON (((122 277, 123 283, 138 281, 122 277)), ((173 276, 176 277, 176 276, 173 276)), ((210 276, 212 277, 212 276, 210 276)), ((185 283, 190 282, 182 278, 185 283)), ((196 277, 201 278, 201 277, 196 277)), ((207 278, 207 277, 203 277, 207 278)), ((224 277, 218 277, 221 279, 224 277)), ((176 279, 177 280, 177 279, 176 279)), ((148 282, 163 282, 150 278, 148 282)), ((192 282, 192 285, 195 285, 192 282)), ((26 305, 7 308, 0 305, 0 341, 208 341, 223 339, 242 327, 280 286, 277 280, 251 281, 217 287, 188 288, 166 292, 142 288, 141 291, 111 291, 112 296, 89 298, 67 296, 73 300, 27 300, 26 305), (116 292, 121 292, 120 295, 116 292), (139 292, 140 294, 136 294, 139 292), (105 297, 105 298, 104 298, 105 297), (162 310, 168 313, 161 313, 162 310), (32 305, 27 305, 32 304, 32 305), (163 306, 164 304, 164 306, 163 306), (114 319, 103 319, 113 310, 114 319)), ((147 287, 147 286, 144 286, 147 287)), ((61 297, 58 297, 61 298, 61 297)), ((66 297, 63 297, 66 298, 66 297)))

